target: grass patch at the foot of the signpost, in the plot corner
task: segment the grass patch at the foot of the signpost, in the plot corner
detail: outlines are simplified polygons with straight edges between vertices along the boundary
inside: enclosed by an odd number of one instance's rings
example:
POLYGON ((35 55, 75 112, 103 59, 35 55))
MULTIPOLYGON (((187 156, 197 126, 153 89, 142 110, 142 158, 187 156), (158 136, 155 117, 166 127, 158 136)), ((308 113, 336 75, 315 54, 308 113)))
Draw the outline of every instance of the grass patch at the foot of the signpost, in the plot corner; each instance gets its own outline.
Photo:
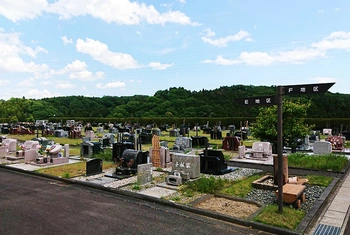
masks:
POLYGON ((304 216, 304 211, 289 207, 283 207, 283 213, 280 214, 278 206, 268 205, 253 220, 263 224, 295 230, 304 216))

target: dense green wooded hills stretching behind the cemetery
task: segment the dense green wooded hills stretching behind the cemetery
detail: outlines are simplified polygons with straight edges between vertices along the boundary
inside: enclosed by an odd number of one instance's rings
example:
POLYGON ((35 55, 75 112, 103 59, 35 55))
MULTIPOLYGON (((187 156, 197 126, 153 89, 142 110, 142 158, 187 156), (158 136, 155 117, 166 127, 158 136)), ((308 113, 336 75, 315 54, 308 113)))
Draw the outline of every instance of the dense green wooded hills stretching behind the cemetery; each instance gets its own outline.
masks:
MULTIPOLYGON (((183 87, 159 90, 153 96, 66 96, 44 99, 0 100, 0 122, 35 120, 220 120, 254 119, 260 108, 243 107, 235 99, 275 95, 275 86, 223 86, 214 90, 190 91, 183 87), (147 119, 148 118, 148 119, 147 119)), ((347 120, 350 95, 326 92, 322 95, 284 96, 284 100, 310 102, 308 118, 347 120)), ((327 121, 326 121, 327 122, 327 121)), ((344 123, 344 125, 348 125, 344 123)))

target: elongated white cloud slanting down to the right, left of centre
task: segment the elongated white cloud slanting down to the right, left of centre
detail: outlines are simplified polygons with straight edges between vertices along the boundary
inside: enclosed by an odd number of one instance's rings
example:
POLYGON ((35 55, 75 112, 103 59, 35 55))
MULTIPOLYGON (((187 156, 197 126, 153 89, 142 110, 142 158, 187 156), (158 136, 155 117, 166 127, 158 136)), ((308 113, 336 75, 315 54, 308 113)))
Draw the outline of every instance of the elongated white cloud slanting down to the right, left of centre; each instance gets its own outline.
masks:
POLYGON ((78 52, 90 55, 94 60, 113 68, 125 70, 141 68, 141 65, 129 54, 111 52, 108 46, 90 38, 78 39, 76 42, 78 52))

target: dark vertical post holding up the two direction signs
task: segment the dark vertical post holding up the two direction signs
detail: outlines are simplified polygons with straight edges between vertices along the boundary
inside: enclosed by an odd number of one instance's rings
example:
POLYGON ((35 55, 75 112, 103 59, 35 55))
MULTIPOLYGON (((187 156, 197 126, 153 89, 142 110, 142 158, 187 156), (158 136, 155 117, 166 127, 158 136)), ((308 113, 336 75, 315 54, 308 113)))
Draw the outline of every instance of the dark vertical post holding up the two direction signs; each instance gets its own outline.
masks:
POLYGON ((277 87, 277 153, 278 153, 278 212, 283 213, 283 116, 282 116, 283 87, 277 87))

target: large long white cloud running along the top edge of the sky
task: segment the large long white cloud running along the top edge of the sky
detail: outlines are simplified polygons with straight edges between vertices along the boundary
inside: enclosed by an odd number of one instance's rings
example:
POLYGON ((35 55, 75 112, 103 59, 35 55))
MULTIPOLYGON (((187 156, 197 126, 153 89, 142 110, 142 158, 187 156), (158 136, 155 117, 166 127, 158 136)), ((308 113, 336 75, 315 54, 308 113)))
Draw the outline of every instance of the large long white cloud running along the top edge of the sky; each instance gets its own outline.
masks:
POLYGON ((180 11, 169 10, 160 13, 153 5, 131 2, 129 0, 58 0, 47 8, 61 19, 91 15, 107 23, 135 25, 145 21, 149 24, 176 23, 194 25, 190 17, 180 11))

